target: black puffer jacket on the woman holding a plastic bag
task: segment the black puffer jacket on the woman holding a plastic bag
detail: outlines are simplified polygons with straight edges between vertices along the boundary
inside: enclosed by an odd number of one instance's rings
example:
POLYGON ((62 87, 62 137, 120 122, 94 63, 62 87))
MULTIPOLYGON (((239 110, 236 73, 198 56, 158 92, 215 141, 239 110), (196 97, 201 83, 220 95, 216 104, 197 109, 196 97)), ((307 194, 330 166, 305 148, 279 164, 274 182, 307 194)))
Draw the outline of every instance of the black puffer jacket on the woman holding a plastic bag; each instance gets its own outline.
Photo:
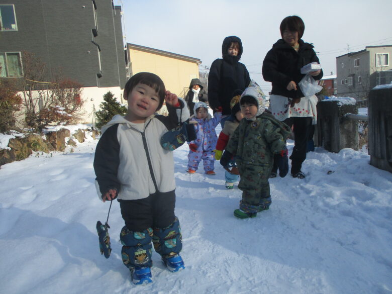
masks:
MULTIPOLYGON (((298 83, 305 76, 301 73, 301 67, 313 61, 320 63, 316 52, 313 50, 313 45, 299 40, 300 49, 298 52, 290 45, 278 40, 273 44, 272 49, 268 51, 263 61, 263 78, 266 81, 272 82, 271 94, 282 95, 293 99, 304 96, 298 83), (295 81, 297 90, 287 90, 287 85, 290 81, 295 81)), ((313 76, 315 80, 323 77, 323 71, 320 74, 313 76)))

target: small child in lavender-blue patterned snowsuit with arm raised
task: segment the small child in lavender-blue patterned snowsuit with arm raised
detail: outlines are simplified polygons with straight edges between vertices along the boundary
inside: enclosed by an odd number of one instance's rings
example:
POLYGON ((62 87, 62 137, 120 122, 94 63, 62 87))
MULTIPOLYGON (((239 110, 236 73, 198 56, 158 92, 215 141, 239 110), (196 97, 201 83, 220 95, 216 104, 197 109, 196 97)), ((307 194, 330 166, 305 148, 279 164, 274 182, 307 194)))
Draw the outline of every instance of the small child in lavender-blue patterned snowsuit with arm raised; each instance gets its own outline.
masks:
POLYGON ((189 142, 187 173, 195 173, 199 163, 203 159, 204 171, 208 175, 215 175, 214 149, 217 144, 215 128, 222 118, 222 112, 216 112, 214 118, 209 117, 208 106, 204 102, 198 102, 193 107, 194 117, 189 123, 194 124, 197 138, 189 142))

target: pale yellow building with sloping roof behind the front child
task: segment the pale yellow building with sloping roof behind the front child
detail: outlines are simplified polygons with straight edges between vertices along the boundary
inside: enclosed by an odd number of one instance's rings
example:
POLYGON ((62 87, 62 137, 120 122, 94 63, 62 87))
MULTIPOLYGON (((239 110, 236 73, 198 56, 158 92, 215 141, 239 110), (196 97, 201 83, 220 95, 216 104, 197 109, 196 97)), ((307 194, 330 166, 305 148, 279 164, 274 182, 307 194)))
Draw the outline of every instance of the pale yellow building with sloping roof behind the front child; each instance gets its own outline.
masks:
POLYGON ((184 96, 192 78, 199 78, 200 59, 127 43, 127 75, 147 71, 157 74, 166 89, 184 96))

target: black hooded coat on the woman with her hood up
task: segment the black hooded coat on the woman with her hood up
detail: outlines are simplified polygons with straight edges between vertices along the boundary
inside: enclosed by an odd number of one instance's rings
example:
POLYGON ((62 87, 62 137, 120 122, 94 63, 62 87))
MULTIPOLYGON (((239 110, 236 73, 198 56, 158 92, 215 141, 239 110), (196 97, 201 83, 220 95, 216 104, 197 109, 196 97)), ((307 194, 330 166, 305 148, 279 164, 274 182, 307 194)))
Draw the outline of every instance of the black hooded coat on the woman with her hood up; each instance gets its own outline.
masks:
POLYGON ((223 59, 216 59, 210 68, 208 76, 208 102, 215 110, 222 107, 223 115, 230 115, 230 100, 236 89, 244 90, 250 83, 249 72, 245 65, 239 62, 242 55, 242 42, 236 36, 226 37, 222 44, 223 59), (238 42, 240 48, 237 56, 227 53, 232 42, 238 42))

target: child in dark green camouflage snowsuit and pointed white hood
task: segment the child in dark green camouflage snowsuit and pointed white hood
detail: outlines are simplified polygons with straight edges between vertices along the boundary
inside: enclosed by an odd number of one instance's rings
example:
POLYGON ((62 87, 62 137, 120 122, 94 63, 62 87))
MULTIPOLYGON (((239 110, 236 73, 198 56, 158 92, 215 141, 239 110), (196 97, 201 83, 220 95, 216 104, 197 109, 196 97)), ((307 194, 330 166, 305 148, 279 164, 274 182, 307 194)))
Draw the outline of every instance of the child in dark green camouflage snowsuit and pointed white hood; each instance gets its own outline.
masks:
POLYGON ((288 171, 285 140, 290 128, 264 112, 265 95, 254 81, 242 93, 240 107, 244 119, 230 137, 221 164, 225 165, 235 156, 241 177, 238 187, 242 190, 242 200, 234 215, 253 218, 271 204, 268 177, 274 154, 281 155, 279 170, 288 171))

